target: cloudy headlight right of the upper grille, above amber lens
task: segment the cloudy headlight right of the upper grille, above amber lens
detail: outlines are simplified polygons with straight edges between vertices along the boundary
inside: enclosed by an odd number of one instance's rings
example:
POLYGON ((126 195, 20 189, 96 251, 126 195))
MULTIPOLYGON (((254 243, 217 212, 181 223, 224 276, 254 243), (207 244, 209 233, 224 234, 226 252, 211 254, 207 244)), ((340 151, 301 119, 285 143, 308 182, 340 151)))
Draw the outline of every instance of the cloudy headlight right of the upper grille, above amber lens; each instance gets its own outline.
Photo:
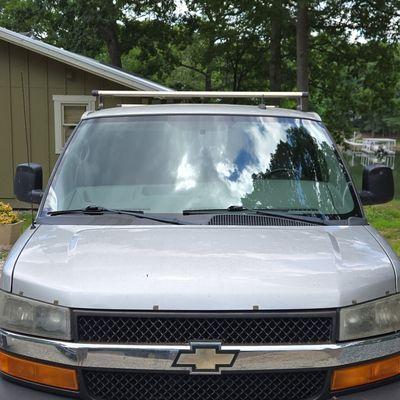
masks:
POLYGON ((340 340, 361 339, 400 330, 400 295, 340 310, 340 340))

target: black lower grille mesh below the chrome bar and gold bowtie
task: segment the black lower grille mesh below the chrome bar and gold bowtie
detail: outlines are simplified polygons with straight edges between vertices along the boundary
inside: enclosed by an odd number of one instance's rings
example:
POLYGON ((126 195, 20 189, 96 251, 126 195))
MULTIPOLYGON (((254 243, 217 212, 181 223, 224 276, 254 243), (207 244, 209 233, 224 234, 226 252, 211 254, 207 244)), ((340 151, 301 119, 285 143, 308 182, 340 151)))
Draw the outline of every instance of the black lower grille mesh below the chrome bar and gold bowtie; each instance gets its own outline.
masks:
POLYGON ((305 400, 322 394, 325 371, 187 375, 84 371, 98 400, 305 400))

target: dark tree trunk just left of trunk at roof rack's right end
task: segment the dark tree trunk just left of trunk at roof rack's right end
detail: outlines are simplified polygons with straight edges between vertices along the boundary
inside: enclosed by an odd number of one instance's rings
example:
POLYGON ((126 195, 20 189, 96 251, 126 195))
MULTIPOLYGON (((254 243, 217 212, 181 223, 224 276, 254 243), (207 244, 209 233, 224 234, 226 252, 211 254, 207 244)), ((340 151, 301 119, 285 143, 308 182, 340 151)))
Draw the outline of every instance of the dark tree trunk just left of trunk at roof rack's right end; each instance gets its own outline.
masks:
POLYGON ((273 92, 279 92, 282 86, 282 2, 272 2, 271 41, 269 62, 269 87, 273 92))

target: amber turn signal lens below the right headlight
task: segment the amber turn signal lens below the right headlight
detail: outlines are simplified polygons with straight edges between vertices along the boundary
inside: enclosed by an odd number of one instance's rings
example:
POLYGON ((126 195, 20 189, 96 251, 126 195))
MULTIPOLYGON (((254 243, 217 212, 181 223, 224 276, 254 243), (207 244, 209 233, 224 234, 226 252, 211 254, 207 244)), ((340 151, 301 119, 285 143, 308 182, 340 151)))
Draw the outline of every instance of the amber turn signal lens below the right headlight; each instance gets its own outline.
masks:
POLYGON ((400 356, 333 372, 331 390, 343 390, 382 381, 400 374, 400 356))

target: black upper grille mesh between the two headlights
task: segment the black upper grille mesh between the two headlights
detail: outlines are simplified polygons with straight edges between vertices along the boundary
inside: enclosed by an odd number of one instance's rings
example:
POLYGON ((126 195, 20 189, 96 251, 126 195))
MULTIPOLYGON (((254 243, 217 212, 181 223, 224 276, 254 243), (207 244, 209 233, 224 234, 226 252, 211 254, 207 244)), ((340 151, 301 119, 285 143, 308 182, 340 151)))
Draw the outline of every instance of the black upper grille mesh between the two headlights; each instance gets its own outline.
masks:
POLYGON ((213 340, 223 344, 301 344, 333 339, 333 319, 326 316, 79 315, 77 326, 78 340, 82 342, 183 344, 213 340))

